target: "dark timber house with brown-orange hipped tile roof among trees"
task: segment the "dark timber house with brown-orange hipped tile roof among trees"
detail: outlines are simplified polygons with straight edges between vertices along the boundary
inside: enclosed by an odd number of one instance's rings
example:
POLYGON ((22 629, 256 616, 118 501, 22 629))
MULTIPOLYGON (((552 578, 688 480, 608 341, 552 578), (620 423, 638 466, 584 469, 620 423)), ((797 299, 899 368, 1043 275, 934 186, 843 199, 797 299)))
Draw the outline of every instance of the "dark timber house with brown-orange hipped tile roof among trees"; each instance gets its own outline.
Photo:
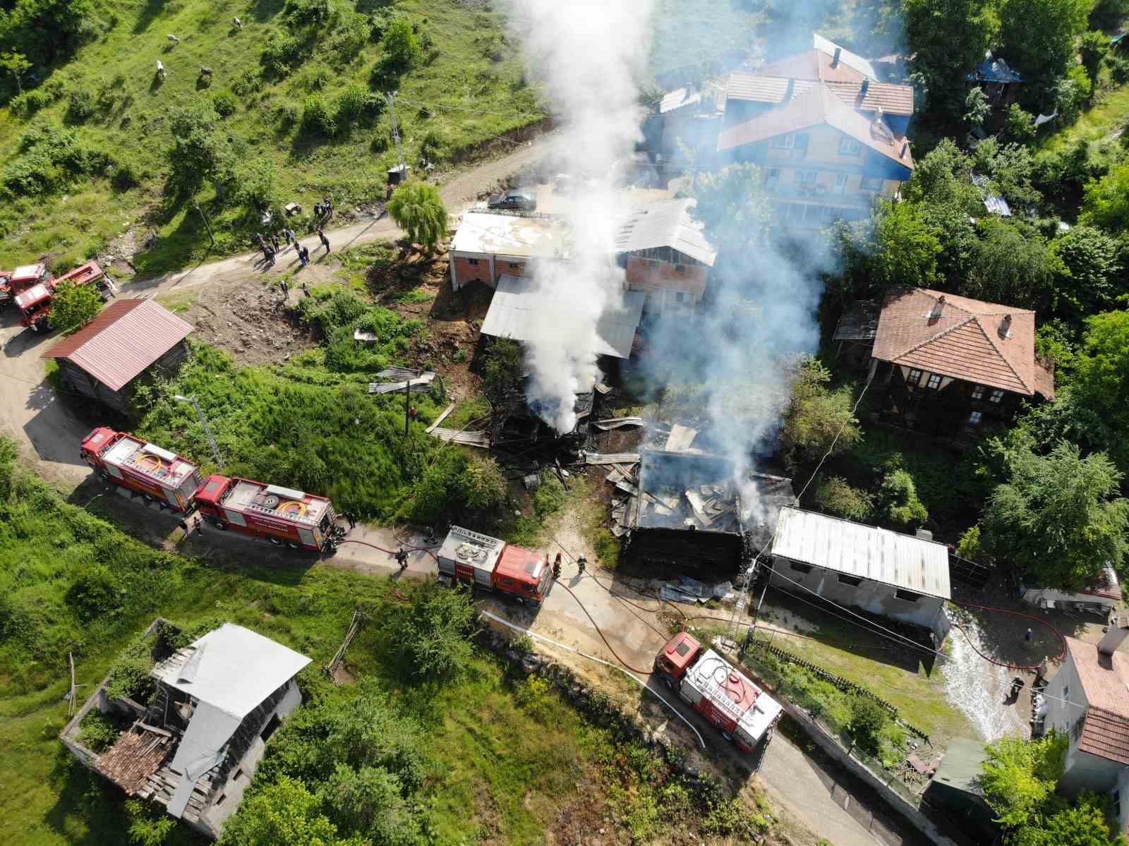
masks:
POLYGON ((1054 368, 1035 355, 1035 313, 926 288, 859 303, 834 340, 869 358, 881 421, 956 446, 1023 400, 1054 399, 1054 368), (869 313, 869 314, 868 314, 869 313))

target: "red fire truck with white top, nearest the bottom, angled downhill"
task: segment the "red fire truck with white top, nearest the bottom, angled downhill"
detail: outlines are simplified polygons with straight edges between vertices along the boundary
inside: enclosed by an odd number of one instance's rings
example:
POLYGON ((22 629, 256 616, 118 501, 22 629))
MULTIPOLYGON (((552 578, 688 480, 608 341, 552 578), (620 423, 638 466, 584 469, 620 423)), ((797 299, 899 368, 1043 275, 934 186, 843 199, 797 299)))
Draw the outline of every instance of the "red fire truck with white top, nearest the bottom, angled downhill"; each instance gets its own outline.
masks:
POLYGON ((655 672, 741 751, 752 752, 771 740, 780 704, 685 631, 655 656, 655 672))

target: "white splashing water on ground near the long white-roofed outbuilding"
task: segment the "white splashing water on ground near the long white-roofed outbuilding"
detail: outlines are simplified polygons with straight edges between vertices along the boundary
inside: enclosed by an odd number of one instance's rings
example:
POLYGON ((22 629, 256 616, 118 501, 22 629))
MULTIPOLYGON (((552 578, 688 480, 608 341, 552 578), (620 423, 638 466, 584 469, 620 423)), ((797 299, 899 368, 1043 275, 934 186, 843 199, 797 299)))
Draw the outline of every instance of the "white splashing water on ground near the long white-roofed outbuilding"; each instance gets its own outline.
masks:
MULTIPOLYGON (((961 626, 977 638, 980 630, 969 620, 961 626)), ((1014 705, 1004 705, 1015 673, 980 657, 969 645, 968 637, 955 626, 948 635, 949 659, 945 662, 945 696, 960 708, 983 740, 998 740, 1005 734, 1026 734, 1026 725, 1014 705)))

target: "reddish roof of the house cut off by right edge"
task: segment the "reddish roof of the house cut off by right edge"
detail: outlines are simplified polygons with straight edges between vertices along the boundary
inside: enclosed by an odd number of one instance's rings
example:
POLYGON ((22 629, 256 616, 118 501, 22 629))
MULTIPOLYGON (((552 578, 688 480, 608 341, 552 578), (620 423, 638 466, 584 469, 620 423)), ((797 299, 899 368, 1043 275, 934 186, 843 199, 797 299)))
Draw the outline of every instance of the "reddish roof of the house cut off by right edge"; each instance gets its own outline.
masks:
POLYGON ((1129 764, 1129 655, 1103 655, 1074 637, 1066 645, 1088 704, 1078 749, 1129 764))

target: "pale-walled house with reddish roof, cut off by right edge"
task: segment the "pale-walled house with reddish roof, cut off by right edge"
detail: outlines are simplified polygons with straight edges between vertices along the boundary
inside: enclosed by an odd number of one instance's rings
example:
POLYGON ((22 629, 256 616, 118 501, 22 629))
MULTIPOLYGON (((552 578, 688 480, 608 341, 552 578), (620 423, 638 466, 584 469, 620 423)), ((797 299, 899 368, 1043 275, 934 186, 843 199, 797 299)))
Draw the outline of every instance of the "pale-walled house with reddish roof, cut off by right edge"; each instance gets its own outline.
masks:
POLYGON ((1114 621, 1097 644, 1066 638, 1062 669, 1047 686, 1043 725, 1069 738, 1059 791, 1110 796, 1112 822, 1129 830, 1129 635, 1114 621))

